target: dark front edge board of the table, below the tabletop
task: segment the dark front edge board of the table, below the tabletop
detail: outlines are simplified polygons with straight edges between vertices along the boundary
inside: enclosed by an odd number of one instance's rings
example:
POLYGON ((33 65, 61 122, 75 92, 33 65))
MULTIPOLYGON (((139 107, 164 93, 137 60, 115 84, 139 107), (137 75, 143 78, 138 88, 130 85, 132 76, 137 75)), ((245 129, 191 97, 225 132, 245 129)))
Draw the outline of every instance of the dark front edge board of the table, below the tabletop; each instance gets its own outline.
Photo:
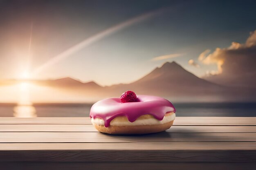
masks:
POLYGON ((0 161, 255 162, 255 150, 3 150, 0 161))

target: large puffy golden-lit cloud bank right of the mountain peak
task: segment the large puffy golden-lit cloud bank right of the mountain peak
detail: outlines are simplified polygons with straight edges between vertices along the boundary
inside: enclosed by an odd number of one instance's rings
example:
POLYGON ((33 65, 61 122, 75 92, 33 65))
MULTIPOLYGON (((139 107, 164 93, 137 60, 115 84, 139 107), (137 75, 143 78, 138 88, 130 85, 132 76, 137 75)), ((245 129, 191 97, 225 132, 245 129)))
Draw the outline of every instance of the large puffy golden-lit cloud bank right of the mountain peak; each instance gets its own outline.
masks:
POLYGON ((256 30, 250 33, 245 44, 232 42, 228 48, 202 52, 198 60, 204 64, 217 64, 218 74, 241 75, 256 73, 256 30))

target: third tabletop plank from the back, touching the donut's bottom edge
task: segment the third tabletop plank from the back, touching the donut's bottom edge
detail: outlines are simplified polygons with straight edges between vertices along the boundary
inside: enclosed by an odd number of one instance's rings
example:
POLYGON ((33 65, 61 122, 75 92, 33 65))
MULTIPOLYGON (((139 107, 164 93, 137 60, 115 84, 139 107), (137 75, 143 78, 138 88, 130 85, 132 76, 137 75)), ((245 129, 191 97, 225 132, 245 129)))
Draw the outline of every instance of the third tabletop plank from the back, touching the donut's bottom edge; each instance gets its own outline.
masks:
POLYGON ((168 133, 107 135, 97 132, 0 132, 0 143, 256 141, 256 133, 168 133))

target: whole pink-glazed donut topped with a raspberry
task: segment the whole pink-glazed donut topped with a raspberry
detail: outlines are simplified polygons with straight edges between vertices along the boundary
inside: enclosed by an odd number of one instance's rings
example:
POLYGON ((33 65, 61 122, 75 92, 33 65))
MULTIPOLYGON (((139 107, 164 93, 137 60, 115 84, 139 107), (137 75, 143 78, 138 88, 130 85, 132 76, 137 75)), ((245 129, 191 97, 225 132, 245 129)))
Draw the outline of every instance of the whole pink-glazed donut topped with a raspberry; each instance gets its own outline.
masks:
POLYGON ((167 99, 127 91, 121 98, 103 99, 93 104, 90 118, 99 132, 147 134, 169 129, 173 125, 175 112, 173 104, 167 99))

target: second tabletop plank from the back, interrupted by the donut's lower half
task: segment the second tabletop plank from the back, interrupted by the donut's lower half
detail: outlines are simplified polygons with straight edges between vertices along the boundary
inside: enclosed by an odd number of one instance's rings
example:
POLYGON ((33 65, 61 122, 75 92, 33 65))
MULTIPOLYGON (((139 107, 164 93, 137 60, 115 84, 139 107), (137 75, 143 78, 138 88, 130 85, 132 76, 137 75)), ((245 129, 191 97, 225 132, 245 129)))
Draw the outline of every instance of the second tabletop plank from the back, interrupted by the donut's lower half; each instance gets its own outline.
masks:
MULTIPOLYGON (((98 132, 87 124, 0 124, 0 132, 98 132)), ((166 132, 256 132, 256 126, 172 126, 166 132)))

